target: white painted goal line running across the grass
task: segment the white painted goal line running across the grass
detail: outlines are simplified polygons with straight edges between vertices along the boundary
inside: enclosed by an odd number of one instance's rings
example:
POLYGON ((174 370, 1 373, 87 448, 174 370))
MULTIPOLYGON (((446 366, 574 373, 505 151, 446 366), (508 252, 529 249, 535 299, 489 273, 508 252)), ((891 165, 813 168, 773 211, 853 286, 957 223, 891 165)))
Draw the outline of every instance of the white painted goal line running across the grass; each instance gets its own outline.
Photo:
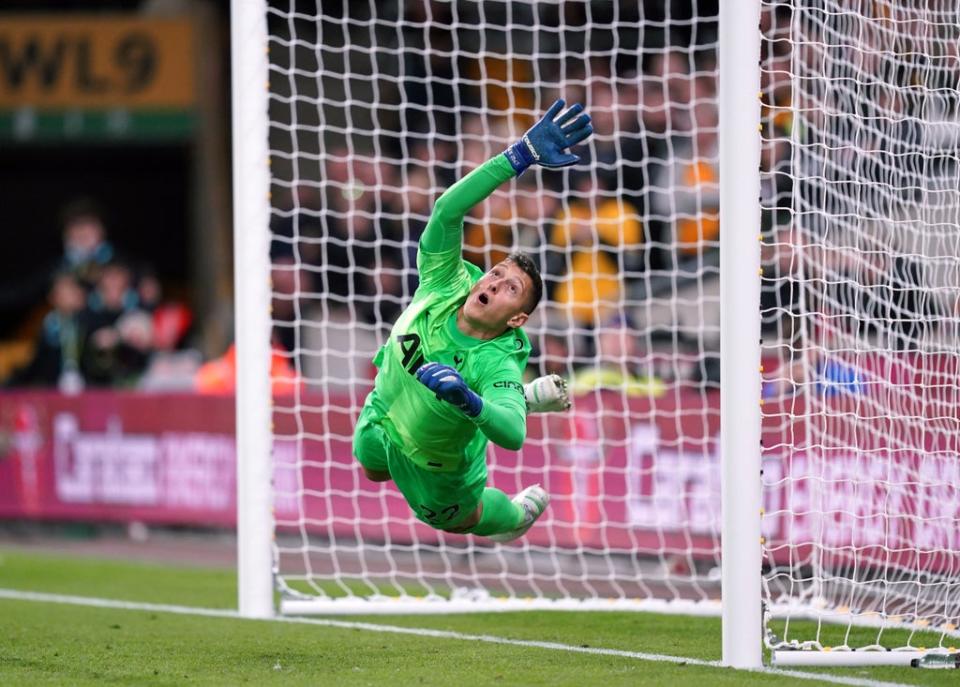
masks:
MULTIPOLYGON (((196 615, 207 618, 230 618, 233 620, 249 620, 241 617, 234 610, 219 608, 201 608, 198 606, 174 606, 171 604, 151 604, 136 601, 119 601, 117 599, 100 599, 89 596, 70 596, 66 594, 47 594, 44 592, 28 592, 18 589, 0 588, 0 599, 13 601, 36 601, 39 603, 68 604, 72 606, 91 606, 94 608, 113 608, 124 611, 147 611, 153 613, 175 613, 178 615, 196 615)), ((539 642, 527 639, 509 639, 492 635, 469 635, 448 630, 431 630, 423 627, 401 627, 399 625, 379 625, 376 623, 358 623, 347 620, 330 620, 326 618, 276 617, 254 622, 294 623, 298 625, 319 625, 321 627, 336 627, 344 630, 365 630, 367 632, 383 632, 400 635, 414 635, 417 637, 434 637, 437 639, 457 639, 468 642, 485 642, 487 644, 506 644, 533 649, 549 649, 551 651, 568 651, 577 654, 591 654, 595 656, 616 656, 618 658, 632 658, 641 661, 657 661, 661 663, 683 663, 692 666, 708 668, 724 668, 720 661, 705 661, 699 658, 686 656, 668 656, 666 654, 648 654, 642 651, 623 651, 621 649, 602 649, 596 647, 572 646, 558 642, 539 642)), ((778 668, 758 668, 749 672, 769 673, 794 677, 799 680, 814 680, 830 682, 836 685, 853 685, 854 687, 910 687, 898 682, 878 682, 856 677, 841 677, 824 673, 804 673, 799 670, 781 670, 778 668)))

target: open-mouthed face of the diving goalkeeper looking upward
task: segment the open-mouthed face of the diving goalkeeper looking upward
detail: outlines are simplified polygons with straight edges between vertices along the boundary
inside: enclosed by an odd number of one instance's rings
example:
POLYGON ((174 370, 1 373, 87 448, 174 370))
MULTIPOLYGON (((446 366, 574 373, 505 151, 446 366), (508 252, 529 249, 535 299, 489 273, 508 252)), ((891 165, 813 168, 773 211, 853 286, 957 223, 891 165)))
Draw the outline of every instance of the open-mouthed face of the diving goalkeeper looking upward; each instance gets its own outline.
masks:
POLYGON ((463 304, 463 314, 475 326, 490 331, 521 327, 529 317, 532 289, 530 275, 512 261, 504 260, 473 285, 463 304))

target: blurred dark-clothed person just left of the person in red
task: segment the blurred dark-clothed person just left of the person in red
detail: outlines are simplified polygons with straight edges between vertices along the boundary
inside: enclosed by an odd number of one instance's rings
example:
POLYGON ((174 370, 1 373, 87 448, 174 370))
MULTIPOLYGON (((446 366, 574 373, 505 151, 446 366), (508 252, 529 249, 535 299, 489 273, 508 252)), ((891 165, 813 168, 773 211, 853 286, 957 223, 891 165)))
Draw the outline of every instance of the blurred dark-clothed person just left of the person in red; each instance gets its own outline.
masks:
POLYGON ((133 273, 105 265, 83 313, 86 340, 81 369, 91 386, 130 386, 146 367, 153 345, 150 314, 138 307, 133 273))

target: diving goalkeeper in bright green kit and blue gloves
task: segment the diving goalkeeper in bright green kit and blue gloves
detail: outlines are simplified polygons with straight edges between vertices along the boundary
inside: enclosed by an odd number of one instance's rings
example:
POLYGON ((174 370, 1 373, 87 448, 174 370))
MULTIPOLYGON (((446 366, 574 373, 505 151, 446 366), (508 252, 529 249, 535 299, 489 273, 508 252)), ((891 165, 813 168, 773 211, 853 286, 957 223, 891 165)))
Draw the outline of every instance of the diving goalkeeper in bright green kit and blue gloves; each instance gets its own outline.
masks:
POLYGON ((420 286, 374 358, 353 452, 369 479, 392 479, 436 529, 511 541, 549 502, 539 484, 513 499, 488 487, 486 465, 488 440, 512 451, 523 445, 527 412, 569 407, 559 376, 522 384, 530 342, 521 327, 543 282, 524 253, 486 274, 465 262, 463 219, 531 165, 578 162, 566 150, 591 133, 583 107, 564 111, 558 100, 520 141, 441 195, 420 238, 420 286))

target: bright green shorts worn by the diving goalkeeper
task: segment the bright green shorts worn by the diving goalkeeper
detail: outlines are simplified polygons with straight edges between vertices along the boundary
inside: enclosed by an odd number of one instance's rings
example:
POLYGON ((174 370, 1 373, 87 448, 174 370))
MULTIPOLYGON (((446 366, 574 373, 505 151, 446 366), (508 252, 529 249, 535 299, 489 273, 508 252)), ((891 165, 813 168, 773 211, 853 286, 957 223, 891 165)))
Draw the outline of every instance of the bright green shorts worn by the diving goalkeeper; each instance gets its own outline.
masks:
POLYGON ((452 529, 477 509, 487 484, 487 466, 474 461, 461 471, 424 470, 401 452, 383 428, 386 414, 376 392, 360 411, 353 432, 353 455, 368 470, 389 472, 419 520, 437 529, 452 529))

